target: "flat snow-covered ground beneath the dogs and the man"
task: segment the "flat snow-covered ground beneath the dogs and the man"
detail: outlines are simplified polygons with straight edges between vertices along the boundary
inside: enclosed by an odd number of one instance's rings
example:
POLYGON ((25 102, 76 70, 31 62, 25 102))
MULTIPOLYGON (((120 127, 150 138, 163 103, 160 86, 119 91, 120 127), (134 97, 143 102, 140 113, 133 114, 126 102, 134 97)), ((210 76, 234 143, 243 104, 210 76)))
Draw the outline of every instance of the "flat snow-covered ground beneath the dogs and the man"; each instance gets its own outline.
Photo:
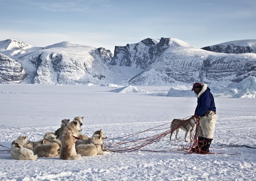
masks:
MULTIPOLYGON (((111 92, 117 88, 120 87, 0 84, 0 144, 10 148, 19 135, 39 141, 45 132, 58 129, 62 119, 73 120, 76 116, 84 116, 83 134, 91 136, 102 129, 108 139, 114 139, 105 143, 112 143, 122 140, 115 138, 191 116, 195 111, 195 97, 166 97, 170 87, 138 86, 148 92, 111 92)), ((215 154, 175 151, 188 143, 184 141, 184 131, 180 131, 180 140, 173 136, 170 141, 167 135, 142 148, 162 152, 136 150, 84 156, 74 161, 59 157, 25 161, 13 160, 9 151, 0 151, 0 180, 256 180, 255 99, 215 98, 215 104, 219 114, 211 145, 215 154)), ((164 131, 143 132, 129 140, 164 131)))

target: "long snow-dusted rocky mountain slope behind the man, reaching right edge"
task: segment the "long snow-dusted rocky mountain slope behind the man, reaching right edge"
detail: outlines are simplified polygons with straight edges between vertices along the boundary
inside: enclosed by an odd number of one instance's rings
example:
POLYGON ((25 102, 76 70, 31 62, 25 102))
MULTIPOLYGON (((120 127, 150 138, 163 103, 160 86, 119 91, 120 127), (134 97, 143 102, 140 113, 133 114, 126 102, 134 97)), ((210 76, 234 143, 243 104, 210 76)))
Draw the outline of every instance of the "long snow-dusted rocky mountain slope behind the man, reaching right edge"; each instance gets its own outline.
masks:
POLYGON ((208 53, 192 47, 170 47, 129 84, 172 85, 204 82, 228 85, 256 75, 256 54, 208 53))

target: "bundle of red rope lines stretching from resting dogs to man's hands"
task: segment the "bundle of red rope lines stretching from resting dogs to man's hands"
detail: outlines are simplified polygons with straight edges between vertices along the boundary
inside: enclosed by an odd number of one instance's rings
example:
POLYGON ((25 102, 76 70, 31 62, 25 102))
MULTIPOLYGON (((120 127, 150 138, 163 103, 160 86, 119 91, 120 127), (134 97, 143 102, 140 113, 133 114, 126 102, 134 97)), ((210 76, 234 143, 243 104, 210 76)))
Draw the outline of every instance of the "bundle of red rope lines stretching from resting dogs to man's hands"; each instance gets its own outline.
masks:
MULTIPOLYGON (((121 140, 121 141, 119 141, 117 143, 105 143, 104 145, 106 146, 106 148, 108 150, 115 151, 115 152, 132 152, 132 151, 135 151, 135 150, 141 150, 141 148, 145 147, 146 145, 154 143, 154 142, 160 140, 161 138, 163 138, 167 134, 170 134, 172 131, 174 131, 174 130, 178 129, 179 127, 183 126, 190 119, 192 119, 192 116, 189 119, 183 121, 178 126, 172 127, 172 129, 170 127, 159 128, 159 127, 162 127, 162 126, 164 126, 166 124, 170 124, 171 123, 171 122, 169 122, 169 123, 165 123, 163 125, 157 126, 157 127, 153 127, 153 128, 147 129, 145 131, 141 131, 141 132, 134 133, 134 134, 129 134, 129 135, 126 135, 126 136, 123 136, 123 137, 115 138, 115 139, 110 139, 110 140, 116 140, 116 139, 124 138, 123 140, 121 140), (139 138, 139 139, 127 141, 129 138, 132 138, 133 136, 141 134, 141 133, 144 133, 144 132, 154 131, 154 130, 164 130, 164 129, 168 129, 168 130, 164 131, 163 133, 156 134, 156 135, 153 135, 153 136, 149 136, 149 137, 146 137, 146 138, 139 138), (128 143, 130 145, 129 146, 125 146, 128 143)), ((109 141, 109 140, 106 140, 106 141, 109 141)), ((158 152, 158 151, 153 151, 153 150, 141 150, 141 151, 158 152)), ((164 151, 164 150, 160 150, 160 151, 164 151)))

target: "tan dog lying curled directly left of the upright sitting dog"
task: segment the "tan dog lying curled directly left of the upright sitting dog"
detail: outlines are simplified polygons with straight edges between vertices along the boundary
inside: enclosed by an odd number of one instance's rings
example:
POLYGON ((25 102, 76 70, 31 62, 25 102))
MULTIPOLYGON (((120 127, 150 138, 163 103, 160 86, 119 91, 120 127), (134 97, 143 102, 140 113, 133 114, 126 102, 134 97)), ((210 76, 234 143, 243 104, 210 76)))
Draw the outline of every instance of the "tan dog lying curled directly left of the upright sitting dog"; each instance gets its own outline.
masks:
POLYGON ((38 157, 51 157, 60 154, 61 144, 52 142, 51 144, 39 145, 34 149, 34 154, 38 157))

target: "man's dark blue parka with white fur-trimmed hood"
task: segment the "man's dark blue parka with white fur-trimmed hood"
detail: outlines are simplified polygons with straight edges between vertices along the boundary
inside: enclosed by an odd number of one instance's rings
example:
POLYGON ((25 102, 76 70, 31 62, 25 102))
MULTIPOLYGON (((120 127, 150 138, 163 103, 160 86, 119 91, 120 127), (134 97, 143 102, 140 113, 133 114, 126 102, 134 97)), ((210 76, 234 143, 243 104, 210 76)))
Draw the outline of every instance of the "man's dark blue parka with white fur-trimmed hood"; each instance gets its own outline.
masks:
POLYGON ((216 112, 214 98, 210 91, 211 89, 207 87, 207 89, 197 99, 197 106, 196 106, 197 116, 200 116, 200 117, 204 116, 205 112, 208 110, 216 112))

